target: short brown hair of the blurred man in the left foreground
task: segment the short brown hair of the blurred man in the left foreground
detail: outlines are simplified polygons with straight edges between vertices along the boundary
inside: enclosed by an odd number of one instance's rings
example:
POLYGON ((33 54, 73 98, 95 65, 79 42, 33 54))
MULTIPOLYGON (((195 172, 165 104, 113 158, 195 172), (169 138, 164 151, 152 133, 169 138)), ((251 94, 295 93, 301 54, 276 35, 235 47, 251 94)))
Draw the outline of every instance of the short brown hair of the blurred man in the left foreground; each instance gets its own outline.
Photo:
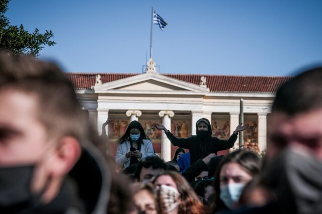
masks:
POLYGON ((15 90, 35 97, 38 117, 49 137, 87 139, 86 117, 72 83, 52 62, 0 52, 0 90, 15 90))

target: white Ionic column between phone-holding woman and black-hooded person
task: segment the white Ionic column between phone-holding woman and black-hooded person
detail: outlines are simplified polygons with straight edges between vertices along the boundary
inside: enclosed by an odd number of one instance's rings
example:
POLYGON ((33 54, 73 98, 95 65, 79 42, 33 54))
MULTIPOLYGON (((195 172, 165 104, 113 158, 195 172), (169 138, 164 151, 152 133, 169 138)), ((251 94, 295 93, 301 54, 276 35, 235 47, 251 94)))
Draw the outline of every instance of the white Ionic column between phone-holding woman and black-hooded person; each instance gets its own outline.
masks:
MULTIPOLYGON (((162 125, 171 132, 171 118, 175 116, 175 113, 173 111, 160 111, 159 116, 163 118, 162 125)), ((162 132, 161 137, 161 158, 166 162, 171 161, 171 142, 165 132, 162 132)))

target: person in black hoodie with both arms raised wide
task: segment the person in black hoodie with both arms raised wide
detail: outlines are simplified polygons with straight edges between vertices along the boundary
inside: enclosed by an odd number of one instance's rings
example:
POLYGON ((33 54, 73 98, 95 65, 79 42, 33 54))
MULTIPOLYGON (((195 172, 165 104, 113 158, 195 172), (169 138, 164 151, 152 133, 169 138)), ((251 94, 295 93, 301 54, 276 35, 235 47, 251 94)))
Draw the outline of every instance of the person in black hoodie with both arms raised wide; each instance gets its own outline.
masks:
POLYGON ((238 132, 247 129, 248 127, 248 124, 245 126, 239 124, 228 140, 219 140, 216 137, 211 137, 211 125, 205 118, 199 119, 196 123, 197 136, 193 135, 189 138, 176 138, 166 129, 166 127, 155 124, 155 128, 165 131, 168 139, 174 146, 190 150, 190 164, 193 164, 198 159, 204 158, 211 153, 217 155, 218 151, 232 148, 237 140, 238 132))

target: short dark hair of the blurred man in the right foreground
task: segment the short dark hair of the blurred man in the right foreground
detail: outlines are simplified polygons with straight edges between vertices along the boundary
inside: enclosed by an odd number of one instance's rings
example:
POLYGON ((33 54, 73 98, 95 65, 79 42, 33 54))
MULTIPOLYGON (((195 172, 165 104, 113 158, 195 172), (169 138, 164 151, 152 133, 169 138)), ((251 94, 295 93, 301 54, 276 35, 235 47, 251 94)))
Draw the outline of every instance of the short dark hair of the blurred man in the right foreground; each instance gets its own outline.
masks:
POLYGON ((288 115, 322 108, 322 67, 304 71, 285 82, 277 91, 272 112, 288 115))

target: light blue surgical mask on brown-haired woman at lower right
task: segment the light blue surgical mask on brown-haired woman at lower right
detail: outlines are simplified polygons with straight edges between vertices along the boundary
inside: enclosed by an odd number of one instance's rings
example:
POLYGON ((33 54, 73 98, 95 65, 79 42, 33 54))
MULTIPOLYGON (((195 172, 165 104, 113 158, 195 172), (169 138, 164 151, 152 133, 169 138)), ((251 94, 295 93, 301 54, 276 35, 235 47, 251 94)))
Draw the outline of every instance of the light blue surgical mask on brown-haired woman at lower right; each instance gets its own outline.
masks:
POLYGON ((233 209, 234 205, 238 202, 244 187, 245 184, 243 183, 233 183, 221 186, 219 197, 229 209, 233 209))

